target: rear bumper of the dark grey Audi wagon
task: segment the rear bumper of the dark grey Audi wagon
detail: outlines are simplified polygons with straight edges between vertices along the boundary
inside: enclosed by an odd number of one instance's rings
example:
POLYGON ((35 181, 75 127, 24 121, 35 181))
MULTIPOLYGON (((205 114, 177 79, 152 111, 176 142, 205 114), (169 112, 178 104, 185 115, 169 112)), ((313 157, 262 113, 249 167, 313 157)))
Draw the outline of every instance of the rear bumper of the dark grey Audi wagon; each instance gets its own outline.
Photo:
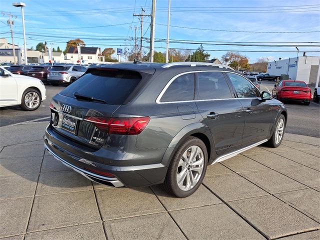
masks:
MULTIPOLYGON (((132 160, 130 165, 123 166, 121 160, 118 160, 119 165, 104 164, 104 162, 116 161, 108 158, 110 154, 108 154, 107 149, 103 149, 105 160, 101 163, 101 161, 95 160, 97 155, 94 150, 91 149, 89 152, 86 146, 81 146, 56 133, 49 126, 45 129, 44 145, 50 154, 66 166, 92 181, 105 185, 136 187, 158 184, 164 181, 167 171, 167 167, 161 163, 134 165, 134 160, 132 160), (89 154, 87 154, 88 152, 89 154), (111 173, 113 177, 97 174, 90 169, 111 173)), ((101 151, 101 148, 99 151, 101 151)), ((122 151, 118 152, 123 154, 123 158, 127 154, 122 151)))

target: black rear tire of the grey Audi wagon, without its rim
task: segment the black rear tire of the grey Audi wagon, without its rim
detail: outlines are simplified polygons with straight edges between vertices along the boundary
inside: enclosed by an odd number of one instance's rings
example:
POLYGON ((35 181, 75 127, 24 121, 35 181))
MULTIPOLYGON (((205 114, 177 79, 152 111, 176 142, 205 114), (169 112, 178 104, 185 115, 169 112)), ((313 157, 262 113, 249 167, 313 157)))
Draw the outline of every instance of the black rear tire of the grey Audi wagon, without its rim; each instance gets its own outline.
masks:
MULTIPOLYGON (((191 195, 193 192, 196 191, 196 189, 200 186, 203 177, 205 175, 205 170, 207 166, 208 161, 208 155, 207 150, 205 147, 205 144, 203 141, 201 141, 197 137, 189 136, 187 137, 181 145, 175 150, 175 153, 171 159, 170 165, 168 167, 164 182, 163 182, 163 188, 172 195, 175 195, 177 197, 186 197, 191 195), (198 178, 198 181, 196 184, 189 190, 182 190, 177 183, 177 171, 178 171, 178 164, 182 157, 182 154, 188 150, 191 146, 198 146, 202 150, 203 153, 203 169, 201 172, 201 175, 198 178)), ((189 168, 188 168, 189 169, 189 168)), ((191 171, 190 171, 191 172, 191 171)), ((192 174, 192 173, 191 173, 192 174)))

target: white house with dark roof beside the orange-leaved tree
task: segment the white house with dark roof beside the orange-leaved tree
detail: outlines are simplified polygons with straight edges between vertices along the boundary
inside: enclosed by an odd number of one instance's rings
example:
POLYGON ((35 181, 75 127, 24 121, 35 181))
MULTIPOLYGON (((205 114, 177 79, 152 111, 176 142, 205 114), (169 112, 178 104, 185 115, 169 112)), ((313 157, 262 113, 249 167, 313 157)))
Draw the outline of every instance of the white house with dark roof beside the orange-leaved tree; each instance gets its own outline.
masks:
POLYGON ((80 53, 78 54, 76 47, 71 46, 66 52, 66 59, 71 60, 73 63, 76 63, 77 60, 84 60, 83 62, 85 63, 97 63, 104 60, 99 47, 81 46, 80 53))

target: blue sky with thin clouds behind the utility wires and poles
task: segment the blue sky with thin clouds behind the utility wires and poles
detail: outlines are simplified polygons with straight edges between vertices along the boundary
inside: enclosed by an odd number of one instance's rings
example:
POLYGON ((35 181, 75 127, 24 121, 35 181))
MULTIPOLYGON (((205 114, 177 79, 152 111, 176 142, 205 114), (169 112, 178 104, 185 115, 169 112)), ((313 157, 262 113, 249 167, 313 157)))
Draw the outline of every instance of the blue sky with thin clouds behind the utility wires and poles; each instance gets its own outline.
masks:
MULTIPOLYGON (((151 6, 151 0, 25 0, 24 2, 26 3, 24 14, 27 47, 34 47, 39 41, 46 40, 48 43, 53 43, 54 48, 59 45, 62 50, 65 48, 65 41, 76 37, 83 39, 86 46, 99 46, 102 49, 104 47, 123 48, 125 44, 130 45, 132 41, 121 39, 133 37, 134 25, 140 25, 139 20, 137 17, 133 17, 132 13, 139 13, 142 6, 146 9, 145 14, 150 14, 151 6), (113 24, 122 25, 95 27, 113 24), (120 40, 116 40, 119 38, 120 40)), ((0 11, 11 12, 17 16, 13 27, 15 43, 22 45, 20 8, 13 7, 11 4, 10 0, 0 0, 0 11)), ((156 23, 166 24, 167 0, 157 0, 156 6, 156 23)), ((263 42, 320 41, 320 32, 244 33, 217 31, 219 29, 235 31, 320 31, 320 2, 318 0, 171 0, 171 6, 170 25, 216 30, 171 27, 170 39, 263 42), (314 6, 315 4, 318 5, 314 6), (270 8, 270 6, 274 7, 270 8), (183 9, 183 11, 173 11, 174 9, 183 9), (295 12, 263 12, 269 9, 273 11, 291 9, 290 11, 295 12), (185 12, 185 10, 188 12, 185 12), (197 11, 194 12, 194 10, 197 11), (203 10, 224 12, 203 12, 203 10), (225 12, 225 10, 231 12, 225 12), (250 12, 234 12, 237 10, 250 12), (252 10, 256 12, 252 13, 252 10)), ((0 37, 7 37, 11 41, 8 33, 9 27, 3 23, 6 19, 7 16, 0 15, 0 37)), ((143 33, 147 30, 150 18, 145 17, 144 21, 143 33)), ((140 34, 139 29, 136 30, 136 34, 140 34)), ((144 36, 148 37, 149 31, 146 31, 144 36)), ((155 37, 166 37, 165 25, 156 24, 155 37)), ((147 42, 143 42, 144 46, 148 46, 148 44, 147 42)), ((295 44, 292 43, 292 45, 295 44)), ((170 43, 169 46, 194 49, 198 45, 170 43)), ((165 42, 156 42, 155 47, 165 47, 165 42)), ((208 50, 211 58, 220 58, 226 50, 296 51, 294 47, 204 45, 204 48, 223 50, 208 50)), ((146 50, 146 48, 144 49, 146 50)), ((164 48, 155 48, 155 50, 165 51, 164 48)), ((299 47, 300 55, 302 55, 302 51, 307 50, 320 51, 320 47, 310 48, 301 46, 299 47)), ((258 58, 268 57, 269 59, 277 59, 278 57, 296 56, 296 52, 241 52, 241 54, 245 54, 249 58, 250 63, 255 62, 258 58)), ((319 52, 307 53, 307 55, 319 54, 319 52)))

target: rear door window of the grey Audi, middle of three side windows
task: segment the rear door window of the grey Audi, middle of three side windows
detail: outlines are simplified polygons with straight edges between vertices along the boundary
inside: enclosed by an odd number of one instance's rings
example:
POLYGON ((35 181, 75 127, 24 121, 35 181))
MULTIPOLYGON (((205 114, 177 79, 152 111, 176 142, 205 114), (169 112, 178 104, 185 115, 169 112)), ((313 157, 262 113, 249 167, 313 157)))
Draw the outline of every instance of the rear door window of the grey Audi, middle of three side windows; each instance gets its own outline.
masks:
POLYGON ((222 72, 199 72, 197 76, 195 99, 232 98, 230 88, 222 72))

